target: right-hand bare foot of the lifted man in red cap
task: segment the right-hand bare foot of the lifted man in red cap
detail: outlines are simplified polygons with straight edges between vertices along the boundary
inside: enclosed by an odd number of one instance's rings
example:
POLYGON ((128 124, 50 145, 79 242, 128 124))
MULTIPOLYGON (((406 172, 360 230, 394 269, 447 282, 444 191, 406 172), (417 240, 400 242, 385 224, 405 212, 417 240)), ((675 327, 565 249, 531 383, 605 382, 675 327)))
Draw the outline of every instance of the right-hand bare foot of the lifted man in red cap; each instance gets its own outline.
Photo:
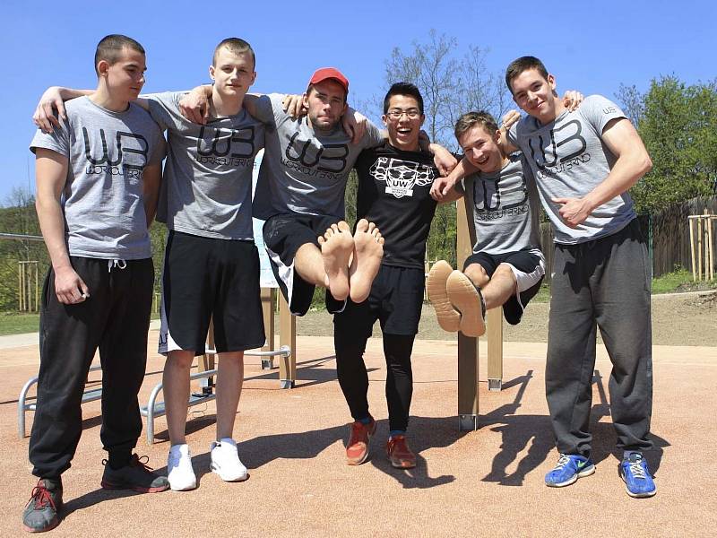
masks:
POLYGON ((371 292, 371 284, 381 267, 384 257, 384 238, 376 228, 376 224, 361 219, 356 225, 353 236, 356 254, 349 270, 350 295, 355 303, 363 302, 371 292))

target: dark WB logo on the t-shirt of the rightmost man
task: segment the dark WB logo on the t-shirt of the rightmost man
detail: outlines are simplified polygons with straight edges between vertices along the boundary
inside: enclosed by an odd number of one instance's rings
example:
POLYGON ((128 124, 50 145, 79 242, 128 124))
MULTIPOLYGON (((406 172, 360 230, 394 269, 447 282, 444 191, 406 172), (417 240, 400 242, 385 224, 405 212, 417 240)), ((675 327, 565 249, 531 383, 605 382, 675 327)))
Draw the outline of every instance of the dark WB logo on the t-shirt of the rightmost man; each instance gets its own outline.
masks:
POLYGON ((528 146, 531 149, 531 158, 536 162, 538 168, 548 173, 556 173, 561 163, 580 159, 583 162, 590 161, 590 154, 583 152, 587 143, 581 134, 583 127, 574 119, 566 122, 550 131, 549 139, 546 140, 542 134, 531 136, 528 146), (560 158, 557 156, 561 155, 560 158))

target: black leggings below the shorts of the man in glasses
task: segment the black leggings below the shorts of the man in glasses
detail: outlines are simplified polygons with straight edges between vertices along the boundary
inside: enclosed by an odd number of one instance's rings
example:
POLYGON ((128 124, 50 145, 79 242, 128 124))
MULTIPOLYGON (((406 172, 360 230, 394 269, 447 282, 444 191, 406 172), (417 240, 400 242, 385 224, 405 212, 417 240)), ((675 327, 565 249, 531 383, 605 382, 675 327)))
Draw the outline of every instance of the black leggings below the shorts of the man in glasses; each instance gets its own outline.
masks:
MULTIPOLYGON (((386 358, 386 402, 388 422, 392 431, 405 431, 409 425, 410 398, 413 395, 413 372, 410 353, 415 335, 384 334, 386 358)), ((364 351, 368 338, 334 331, 336 370, 341 391, 355 421, 367 418, 368 373, 364 351)))

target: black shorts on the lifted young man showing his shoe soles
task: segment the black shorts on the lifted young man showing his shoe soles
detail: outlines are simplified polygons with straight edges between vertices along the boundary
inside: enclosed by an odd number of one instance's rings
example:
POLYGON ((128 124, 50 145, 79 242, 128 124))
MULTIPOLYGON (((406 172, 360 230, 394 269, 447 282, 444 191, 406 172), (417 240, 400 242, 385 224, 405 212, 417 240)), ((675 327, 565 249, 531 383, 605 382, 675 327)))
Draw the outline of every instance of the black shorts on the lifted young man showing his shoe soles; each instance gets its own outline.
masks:
POLYGON ((492 277, 500 264, 510 265, 517 281, 515 295, 505 301, 503 316, 511 325, 520 323, 523 310, 535 294, 540 291, 540 282, 545 276, 545 257, 539 249, 519 250, 504 254, 488 254, 477 252, 465 260, 463 271, 471 264, 479 264, 492 277))

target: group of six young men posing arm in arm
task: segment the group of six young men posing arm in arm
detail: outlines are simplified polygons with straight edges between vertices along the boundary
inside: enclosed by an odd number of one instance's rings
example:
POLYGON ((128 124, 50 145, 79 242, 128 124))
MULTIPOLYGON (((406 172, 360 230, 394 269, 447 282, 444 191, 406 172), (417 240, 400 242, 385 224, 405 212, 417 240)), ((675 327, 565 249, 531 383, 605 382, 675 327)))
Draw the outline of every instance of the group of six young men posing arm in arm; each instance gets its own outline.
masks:
MULTIPOLYGON (((587 425, 597 321, 615 364, 610 394, 618 444, 626 450, 628 492, 654 493, 641 452, 649 447, 651 411, 650 275, 645 269, 635 283, 630 279, 640 274, 625 272, 635 264, 635 252, 645 255, 625 191, 647 168, 637 169, 634 153, 642 144, 615 105, 596 96, 569 113, 556 97, 552 75, 535 58, 521 58, 506 82, 529 117, 505 140, 488 114, 462 116, 455 133, 465 158, 456 166, 445 149, 421 141, 423 100, 410 83, 394 84, 386 94, 381 132, 348 108, 349 82, 333 68, 313 74, 298 115, 285 109, 281 94, 247 94, 255 82, 255 53, 242 39, 217 46, 212 86, 188 95, 139 99, 144 50, 125 36, 99 42, 95 68, 96 90, 51 88, 35 115, 37 207, 52 266, 43 291, 38 407, 30 437, 39 482, 23 512, 26 530, 59 523, 61 474, 80 438, 82 390, 98 347, 101 438, 109 455, 102 487, 196 487, 185 438, 189 369, 204 351, 210 320, 219 353, 211 469, 225 481, 246 480, 233 439, 243 354, 265 339, 252 215, 265 221, 264 243, 292 313, 304 315, 315 286, 326 288, 337 374, 354 419, 347 463, 367 460, 376 431, 363 353, 377 319, 387 366, 387 456, 394 467, 415 466, 406 440, 410 355, 436 202, 466 195, 479 240, 463 272, 436 264, 428 291, 441 326, 479 335, 486 308, 505 304, 506 319, 518 323, 540 286, 545 261, 534 224, 536 185, 560 253, 546 378, 561 456, 546 482, 567 485, 594 471, 587 425), (63 100, 70 100, 66 107, 63 100), (511 154, 511 144, 523 155, 511 154), (343 198, 354 168, 358 221, 350 230, 343 198), (155 212, 168 226, 159 343, 167 355, 166 478, 133 454, 142 430, 137 394, 153 284, 147 230, 155 212), (635 481, 642 481, 642 490, 635 490, 635 481)), ((649 163, 646 153, 644 158, 649 163)))

